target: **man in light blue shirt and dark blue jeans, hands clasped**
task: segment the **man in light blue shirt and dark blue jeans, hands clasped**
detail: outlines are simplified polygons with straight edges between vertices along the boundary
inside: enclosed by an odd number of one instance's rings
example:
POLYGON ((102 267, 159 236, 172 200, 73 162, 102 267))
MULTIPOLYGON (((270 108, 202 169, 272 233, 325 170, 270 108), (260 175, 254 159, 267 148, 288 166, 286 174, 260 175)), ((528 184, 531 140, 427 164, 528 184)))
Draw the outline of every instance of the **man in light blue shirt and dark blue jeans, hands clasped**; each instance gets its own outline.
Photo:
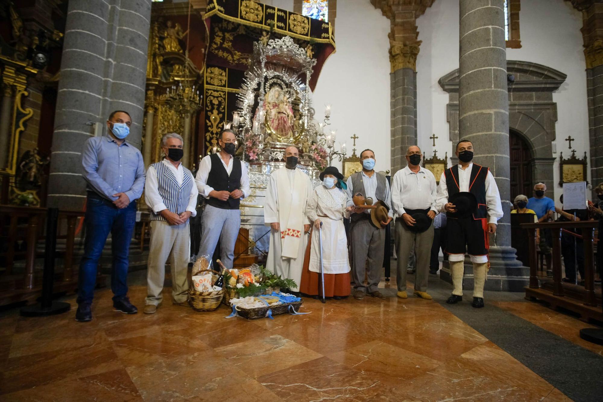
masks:
POLYGON ((140 151, 125 137, 130 133, 127 111, 116 110, 107 120, 107 134, 86 141, 81 164, 87 183, 86 240, 78 278, 76 321, 92 319, 92 298, 96 267, 111 233, 113 266, 111 290, 113 309, 134 314, 138 310, 128 300, 128 254, 136 222, 137 198, 145 186, 145 166, 140 151))

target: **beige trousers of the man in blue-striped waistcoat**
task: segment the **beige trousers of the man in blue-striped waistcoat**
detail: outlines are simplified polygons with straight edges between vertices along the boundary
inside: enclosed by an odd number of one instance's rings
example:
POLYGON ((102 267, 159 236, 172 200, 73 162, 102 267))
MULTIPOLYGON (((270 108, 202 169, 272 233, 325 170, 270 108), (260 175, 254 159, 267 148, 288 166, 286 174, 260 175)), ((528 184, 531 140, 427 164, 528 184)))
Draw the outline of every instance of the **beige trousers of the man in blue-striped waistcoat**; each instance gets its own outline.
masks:
POLYGON ((172 274, 172 298, 182 303, 188 298, 188 263, 191 259, 191 233, 189 222, 182 225, 170 225, 168 222, 151 221, 151 242, 147 263, 147 299, 146 304, 159 306, 163 300, 163 281, 165 263, 169 258, 172 274))

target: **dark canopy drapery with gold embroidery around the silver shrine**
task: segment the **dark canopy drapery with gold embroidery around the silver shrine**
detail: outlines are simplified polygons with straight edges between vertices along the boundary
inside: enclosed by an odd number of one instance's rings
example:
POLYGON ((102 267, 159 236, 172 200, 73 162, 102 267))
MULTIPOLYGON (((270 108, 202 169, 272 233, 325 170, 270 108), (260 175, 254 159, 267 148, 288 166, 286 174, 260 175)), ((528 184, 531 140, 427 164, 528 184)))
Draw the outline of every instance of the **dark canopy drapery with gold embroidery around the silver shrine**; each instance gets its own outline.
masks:
POLYGON ((310 87, 313 90, 324 61, 335 50, 330 24, 251 0, 210 0, 204 16, 207 46, 204 79, 204 149, 212 152, 224 122, 238 110, 239 89, 250 68, 253 43, 291 37, 301 48, 310 48, 317 60, 310 87))

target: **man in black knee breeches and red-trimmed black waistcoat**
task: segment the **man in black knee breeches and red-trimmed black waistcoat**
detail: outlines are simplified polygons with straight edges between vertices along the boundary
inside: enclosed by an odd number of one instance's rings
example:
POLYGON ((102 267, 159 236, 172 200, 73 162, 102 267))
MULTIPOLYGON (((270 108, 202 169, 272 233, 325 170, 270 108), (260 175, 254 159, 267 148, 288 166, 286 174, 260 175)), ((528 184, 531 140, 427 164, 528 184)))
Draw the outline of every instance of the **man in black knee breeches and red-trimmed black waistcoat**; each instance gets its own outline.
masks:
POLYGON ((459 164, 440 178, 438 209, 446 212, 446 253, 454 290, 446 303, 463 300, 465 253, 473 263, 473 307, 484 307, 484 283, 488 270, 488 236, 502 218, 500 193, 490 169, 472 162, 473 143, 456 144, 459 164), (490 218, 488 218, 490 216, 490 218))

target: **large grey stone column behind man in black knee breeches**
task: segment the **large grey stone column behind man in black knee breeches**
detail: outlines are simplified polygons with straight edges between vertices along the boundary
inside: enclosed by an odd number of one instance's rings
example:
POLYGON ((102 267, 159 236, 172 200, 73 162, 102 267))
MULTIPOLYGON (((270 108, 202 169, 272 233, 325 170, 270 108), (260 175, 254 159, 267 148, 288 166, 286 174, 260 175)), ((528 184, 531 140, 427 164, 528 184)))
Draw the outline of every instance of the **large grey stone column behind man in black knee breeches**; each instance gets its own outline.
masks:
MULTIPOLYGON (((459 139, 475 148, 474 160, 493 174, 505 213, 490 236, 487 288, 517 290, 525 272, 511 248, 509 100, 503 0, 460 0, 459 139), (510 268, 517 268, 513 272, 510 268), (515 277, 515 278, 513 278, 515 277), (514 281, 511 281, 514 280, 514 281)), ((467 272, 467 271, 466 271, 467 272)), ((523 279, 522 279, 523 278, 523 279)))

